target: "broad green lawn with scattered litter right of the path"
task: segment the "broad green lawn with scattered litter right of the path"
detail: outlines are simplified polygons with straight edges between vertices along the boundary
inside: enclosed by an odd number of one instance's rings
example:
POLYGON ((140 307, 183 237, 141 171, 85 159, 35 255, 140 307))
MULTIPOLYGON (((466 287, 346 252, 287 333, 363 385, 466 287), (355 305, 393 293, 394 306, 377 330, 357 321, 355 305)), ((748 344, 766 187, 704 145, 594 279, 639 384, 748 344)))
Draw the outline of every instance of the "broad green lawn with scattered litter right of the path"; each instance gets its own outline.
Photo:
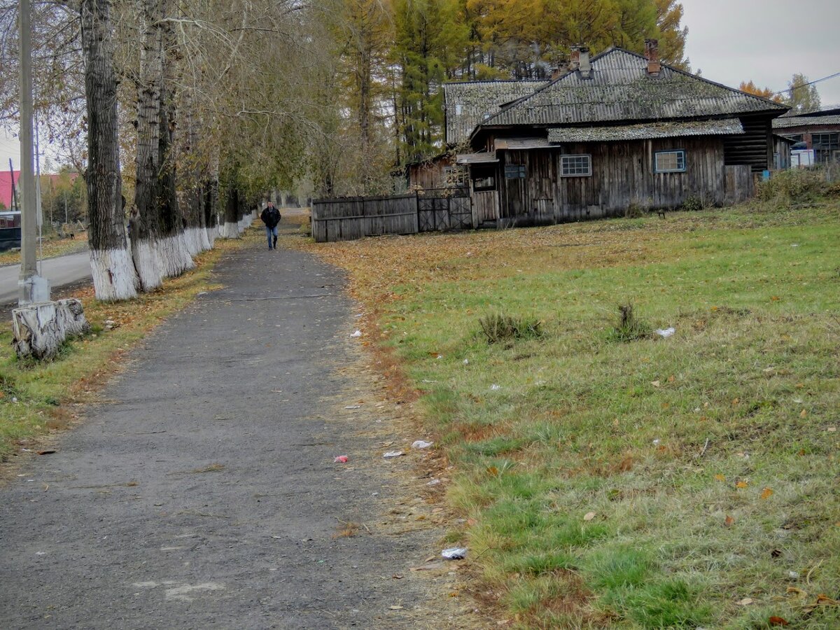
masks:
POLYGON ((302 246, 420 391, 509 626, 827 629, 838 245, 834 199, 302 246))

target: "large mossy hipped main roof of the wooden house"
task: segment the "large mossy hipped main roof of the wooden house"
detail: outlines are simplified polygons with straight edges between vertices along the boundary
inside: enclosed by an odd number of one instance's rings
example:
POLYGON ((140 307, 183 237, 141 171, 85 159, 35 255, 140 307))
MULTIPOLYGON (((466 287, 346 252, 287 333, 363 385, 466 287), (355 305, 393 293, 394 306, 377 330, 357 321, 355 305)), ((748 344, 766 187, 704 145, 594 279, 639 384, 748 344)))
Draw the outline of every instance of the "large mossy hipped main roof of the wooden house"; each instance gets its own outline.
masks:
POLYGON ((619 48, 596 56, 590 79, 570 72, 481 123, 563 125, 701 118, 785 111, 785 106, 670 66, 649 76, 642 55, 619 48))

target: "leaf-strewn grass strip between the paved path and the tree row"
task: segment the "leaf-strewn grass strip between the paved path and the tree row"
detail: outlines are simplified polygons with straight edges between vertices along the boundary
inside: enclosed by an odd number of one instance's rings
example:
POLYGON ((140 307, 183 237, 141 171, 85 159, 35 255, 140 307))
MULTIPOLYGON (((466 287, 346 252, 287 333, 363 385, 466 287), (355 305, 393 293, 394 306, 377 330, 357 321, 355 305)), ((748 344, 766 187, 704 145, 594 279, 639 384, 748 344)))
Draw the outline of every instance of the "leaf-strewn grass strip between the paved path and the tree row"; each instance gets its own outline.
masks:
MULTIPOLYGON (((249 238, 255 238, 252 230, 249 238)), ((103 383, 123 365, 123 354, 146 333, 181 310, 197 293, 213 287, 213 265, 242 241, 217 240, 197 256, 197 268, 164 282, 158 291, 127 302, 100 302, 93 289, 76 293, 92 333, 72 339, 53 361, 18 360, 12 349, 11 320, 0 326, 0 462, 19 449, 37 449, 39 440, 75 419, 76 404, 91 402, 103 383), (117 324, 105 328, 106 320, 117 324)))

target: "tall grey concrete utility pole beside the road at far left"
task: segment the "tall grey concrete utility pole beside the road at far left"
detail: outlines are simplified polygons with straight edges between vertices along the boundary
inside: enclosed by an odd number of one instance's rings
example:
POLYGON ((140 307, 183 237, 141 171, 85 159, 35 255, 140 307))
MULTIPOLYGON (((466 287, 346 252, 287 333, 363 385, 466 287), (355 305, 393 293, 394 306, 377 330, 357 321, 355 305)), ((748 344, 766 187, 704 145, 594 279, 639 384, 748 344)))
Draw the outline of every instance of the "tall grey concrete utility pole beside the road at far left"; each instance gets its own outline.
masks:
POLYGON ((29 0, 20 0, 20 184, 23 191, 20 223, 18 305, 50 301, 50 285, 38 275, 38 197, 35 192, 32 104, 32 13, 29 0))

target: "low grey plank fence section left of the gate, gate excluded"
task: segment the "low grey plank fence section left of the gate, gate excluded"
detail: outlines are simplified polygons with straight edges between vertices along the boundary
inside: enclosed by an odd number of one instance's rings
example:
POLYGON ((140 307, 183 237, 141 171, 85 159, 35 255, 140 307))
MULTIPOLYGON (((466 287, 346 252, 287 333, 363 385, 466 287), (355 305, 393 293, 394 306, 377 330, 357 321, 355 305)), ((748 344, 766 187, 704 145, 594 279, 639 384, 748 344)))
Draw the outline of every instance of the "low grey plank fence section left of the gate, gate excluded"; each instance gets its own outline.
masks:
POLYGON ((312 201, 312 237, 317 243, 378 234, 417 234, 417 196, 312 201))

